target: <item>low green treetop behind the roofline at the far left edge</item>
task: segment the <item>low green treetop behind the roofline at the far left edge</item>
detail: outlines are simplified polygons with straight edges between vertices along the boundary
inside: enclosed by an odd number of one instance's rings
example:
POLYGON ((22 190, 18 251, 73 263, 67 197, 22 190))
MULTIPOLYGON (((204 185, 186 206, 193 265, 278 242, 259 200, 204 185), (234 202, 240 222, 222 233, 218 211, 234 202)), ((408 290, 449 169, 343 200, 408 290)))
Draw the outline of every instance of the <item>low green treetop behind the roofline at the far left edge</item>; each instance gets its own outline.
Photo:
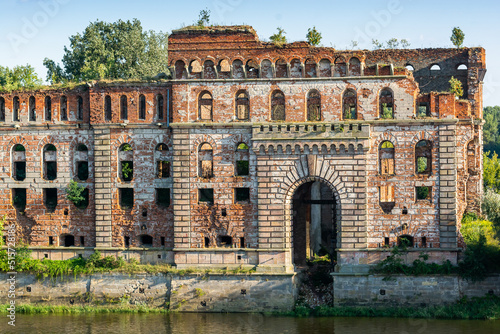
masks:
POLYGON ((12 69, 0 66, 0 86, 3 91, 36 89, 42 84, 42 79, 31 65, 16 66, 12 69))

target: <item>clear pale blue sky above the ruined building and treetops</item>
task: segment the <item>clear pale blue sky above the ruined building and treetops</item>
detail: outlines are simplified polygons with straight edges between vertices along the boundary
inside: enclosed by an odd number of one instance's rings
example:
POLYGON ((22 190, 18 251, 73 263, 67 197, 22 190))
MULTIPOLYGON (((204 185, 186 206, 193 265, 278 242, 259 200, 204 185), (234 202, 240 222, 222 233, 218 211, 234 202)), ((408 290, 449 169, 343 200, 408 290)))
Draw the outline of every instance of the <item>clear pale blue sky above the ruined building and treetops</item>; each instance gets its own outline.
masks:
POLYGON ((277 27, 288 41, 305 40, 308 28, 324 46, 372 49, 372 39, 406 39, 410 48, 453 47, 453 27, 465 46, 486 49, 484 106, 500 105, 500 1, 436 0, 0 0, 0 66, 33 65, 45 79, 45 57, 60 62, 69 37, 90 22, 137 18, 146 30, 170 32, 198 19, 208 8, 211 23, 248 24, 261 40, 277 27), (495 61, 498 60, 498 61, 495 61))

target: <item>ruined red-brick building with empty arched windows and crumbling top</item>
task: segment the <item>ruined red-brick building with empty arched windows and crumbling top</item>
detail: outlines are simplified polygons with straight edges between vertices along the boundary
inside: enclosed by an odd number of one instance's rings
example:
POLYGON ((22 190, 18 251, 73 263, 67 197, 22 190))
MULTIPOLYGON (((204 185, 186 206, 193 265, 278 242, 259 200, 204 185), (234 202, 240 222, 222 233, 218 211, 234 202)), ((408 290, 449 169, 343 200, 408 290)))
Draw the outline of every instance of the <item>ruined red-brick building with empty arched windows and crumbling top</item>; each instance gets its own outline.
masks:
POLYGON ((335 252, 348 272, 404 237, 456 263, 482 193, 482 48, 278 48, 247 26, 185 28, 169 65, 171 80, 0 94, 0 214, 34 256, 291 271, 335 252))

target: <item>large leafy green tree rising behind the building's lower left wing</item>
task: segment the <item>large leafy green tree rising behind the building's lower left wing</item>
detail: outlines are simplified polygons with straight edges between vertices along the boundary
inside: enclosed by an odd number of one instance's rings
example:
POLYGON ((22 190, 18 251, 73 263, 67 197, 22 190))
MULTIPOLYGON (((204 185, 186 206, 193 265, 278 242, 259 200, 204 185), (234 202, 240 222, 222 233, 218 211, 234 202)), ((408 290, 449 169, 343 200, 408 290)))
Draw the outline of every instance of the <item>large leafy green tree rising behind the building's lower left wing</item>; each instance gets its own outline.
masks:
POLYGON ((64 48, 62 68, 44 60, 51 82, 64 80, 142 79, 168 73, 168 36, 144 31, 141 22, 96 21, 70 37, 64 48))

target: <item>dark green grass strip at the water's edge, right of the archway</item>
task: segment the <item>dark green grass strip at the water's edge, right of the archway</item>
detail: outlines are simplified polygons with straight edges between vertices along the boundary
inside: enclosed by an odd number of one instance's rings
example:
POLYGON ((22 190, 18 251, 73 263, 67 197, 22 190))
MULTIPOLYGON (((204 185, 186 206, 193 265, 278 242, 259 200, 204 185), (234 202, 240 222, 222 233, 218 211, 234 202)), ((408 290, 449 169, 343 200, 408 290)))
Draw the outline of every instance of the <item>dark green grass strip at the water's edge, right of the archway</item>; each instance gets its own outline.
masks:
POLYGON ((387 317, 424 319, 499 320, 500 297, 463 298, 455 304, 427 307, 316 307, 297 306, 282 315, 292 317, 387 317))

